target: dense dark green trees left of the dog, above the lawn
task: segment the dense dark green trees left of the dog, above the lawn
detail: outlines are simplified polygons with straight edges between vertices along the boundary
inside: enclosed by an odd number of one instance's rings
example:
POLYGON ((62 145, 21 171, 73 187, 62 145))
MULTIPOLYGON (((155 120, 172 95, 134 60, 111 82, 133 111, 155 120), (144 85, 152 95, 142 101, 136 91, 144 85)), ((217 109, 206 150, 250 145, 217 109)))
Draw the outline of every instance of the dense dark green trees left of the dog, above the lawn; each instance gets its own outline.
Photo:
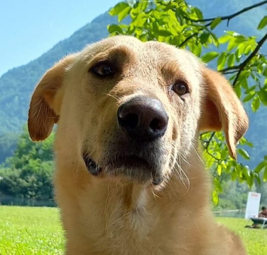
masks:
POLYGON ((44 142, 34 143, 24 129, 14 155, 0 169, 0 192, 3 195, 53 199, 53 140, 52 134, 44 142))

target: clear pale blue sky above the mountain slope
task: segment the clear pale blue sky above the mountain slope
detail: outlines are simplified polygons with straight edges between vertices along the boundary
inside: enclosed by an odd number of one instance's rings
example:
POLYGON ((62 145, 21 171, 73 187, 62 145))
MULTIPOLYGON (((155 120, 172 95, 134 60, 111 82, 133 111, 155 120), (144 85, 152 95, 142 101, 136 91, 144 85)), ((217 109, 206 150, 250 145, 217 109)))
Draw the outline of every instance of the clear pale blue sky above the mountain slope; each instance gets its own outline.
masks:
POLYGON ((27 64, 119 0, 1 0, 0 76, 27 64))

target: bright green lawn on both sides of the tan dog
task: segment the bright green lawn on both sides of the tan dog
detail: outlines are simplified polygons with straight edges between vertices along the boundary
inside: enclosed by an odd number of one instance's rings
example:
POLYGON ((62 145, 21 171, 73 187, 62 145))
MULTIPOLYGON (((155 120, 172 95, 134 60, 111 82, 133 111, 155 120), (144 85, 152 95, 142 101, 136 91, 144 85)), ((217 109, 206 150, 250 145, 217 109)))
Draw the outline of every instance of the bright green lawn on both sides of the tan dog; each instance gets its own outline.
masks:
MULTIPOLYGON (((267 254, 267 230, 245 229, 244 219, 218 221, 241 236, 249 255, 267 254)), ((57 208, 0 206, 1 255, 63 254, 63 247, 57 208)))

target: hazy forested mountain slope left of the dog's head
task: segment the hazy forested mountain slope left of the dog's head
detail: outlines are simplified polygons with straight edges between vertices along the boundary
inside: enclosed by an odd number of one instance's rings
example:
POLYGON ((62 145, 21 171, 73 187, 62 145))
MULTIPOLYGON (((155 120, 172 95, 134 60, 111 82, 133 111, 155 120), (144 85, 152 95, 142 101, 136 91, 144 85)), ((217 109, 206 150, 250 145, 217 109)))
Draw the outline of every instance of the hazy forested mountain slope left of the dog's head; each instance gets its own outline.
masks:
POLYGON ((0 78, 0 134, 22 129, 27 119, 31 93, 50 66, 64 55, 79 51, 88 43, 107 37, 107 24, 115 21, 116 18, 107 13, 100 15, 39 58, 2 75, 0 78))

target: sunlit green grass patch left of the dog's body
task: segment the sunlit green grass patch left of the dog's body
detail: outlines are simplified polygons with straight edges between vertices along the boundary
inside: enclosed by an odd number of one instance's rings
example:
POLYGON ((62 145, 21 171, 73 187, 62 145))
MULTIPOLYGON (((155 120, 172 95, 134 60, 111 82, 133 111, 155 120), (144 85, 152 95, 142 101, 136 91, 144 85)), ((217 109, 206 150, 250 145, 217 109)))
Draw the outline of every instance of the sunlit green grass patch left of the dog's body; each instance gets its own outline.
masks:
POLYGON ((0 206, 0 254, 63 254, 57 208, 0 206))

